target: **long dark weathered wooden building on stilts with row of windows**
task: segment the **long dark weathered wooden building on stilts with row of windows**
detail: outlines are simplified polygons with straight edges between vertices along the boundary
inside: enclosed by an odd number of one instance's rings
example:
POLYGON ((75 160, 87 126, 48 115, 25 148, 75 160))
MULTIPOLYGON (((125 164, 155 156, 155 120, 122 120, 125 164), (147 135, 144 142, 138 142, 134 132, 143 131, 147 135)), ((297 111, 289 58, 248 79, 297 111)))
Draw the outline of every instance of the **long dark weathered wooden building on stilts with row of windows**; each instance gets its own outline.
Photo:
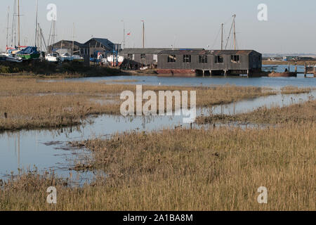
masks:
POLYGON ((261 70, 262 54, 254 50, 164 50, 158 53, 157 68, 195 70, 203 75, 251 75, 261 70))

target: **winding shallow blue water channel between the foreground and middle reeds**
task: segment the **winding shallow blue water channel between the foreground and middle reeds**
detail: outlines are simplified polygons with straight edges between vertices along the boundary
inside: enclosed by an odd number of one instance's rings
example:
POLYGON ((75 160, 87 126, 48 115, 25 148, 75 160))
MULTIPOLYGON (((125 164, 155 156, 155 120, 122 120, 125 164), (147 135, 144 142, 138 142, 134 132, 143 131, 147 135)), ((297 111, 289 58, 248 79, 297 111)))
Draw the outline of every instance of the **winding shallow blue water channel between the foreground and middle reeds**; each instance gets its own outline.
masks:
MULTIPOLYGON (((212 108, 213 114, 246 113, 256 108, 276 105, 285 106, 308 101, 316 96, 310 94, 278 94, 254 98, 212 108)), ((209 109, 199 109, 197 115, 207 115, 209 109)), ((37 168, 39 172, 54 171, 63 178, 72 178, 74 184, 92 181, 93 172, 75 172, 70 170, 76 160, 91 157, 88 150, 67 146, 69 141, 82 141, 95 137, 110 137, 124 131, 152 131, 163 128, 175 128, 183 125, 182 116, 165 117, 121 117, 101 115, 89 117, 79 127, 56 130, 15 131, 0 134, 0 179, 18 174, 20 169, 37 168)), ((187 125, 183 125, 187 126, 187 125)), ((188 126, 187 126, 188 127, 188 126)))

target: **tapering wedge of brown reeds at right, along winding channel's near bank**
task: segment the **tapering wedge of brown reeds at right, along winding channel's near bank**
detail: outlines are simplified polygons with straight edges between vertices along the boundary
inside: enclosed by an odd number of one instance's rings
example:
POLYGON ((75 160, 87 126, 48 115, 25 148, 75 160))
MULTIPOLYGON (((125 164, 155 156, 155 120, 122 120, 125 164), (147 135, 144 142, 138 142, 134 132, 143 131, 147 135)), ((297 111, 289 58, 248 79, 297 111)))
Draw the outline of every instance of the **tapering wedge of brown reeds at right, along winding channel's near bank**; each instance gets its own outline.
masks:
POLYGON ((211 115, 197 118, 198 124, 212 124, 216 122, 230 123, 254 123, 254 124, 282 124, 284 122, 315 122, 316 101, 310 99, 306 103, 299 103, 287 107, 258 108, 251 113, 238 115, 211 115))

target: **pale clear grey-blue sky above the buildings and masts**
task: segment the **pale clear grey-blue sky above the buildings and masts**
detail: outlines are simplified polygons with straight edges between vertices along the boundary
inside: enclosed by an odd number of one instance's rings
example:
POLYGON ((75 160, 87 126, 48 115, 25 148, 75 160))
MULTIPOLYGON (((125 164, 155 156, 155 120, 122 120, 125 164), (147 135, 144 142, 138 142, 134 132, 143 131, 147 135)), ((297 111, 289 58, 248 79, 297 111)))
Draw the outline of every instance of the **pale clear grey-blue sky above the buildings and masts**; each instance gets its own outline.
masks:
MULTIPOLYGON (((6 47, 7 12, 12 26, 14 0, 0 0, 0 50, 6 47)), ((45 39, 51 28, 48 4, 57 6, 57 39, 81 43, 91 37, 107 38, 126 47, 220 49, 220 24, 225 44, 232 15, 236 14, 237 49, 261 53, 316 53, 315 0, 39 0, 39 23, 45 39), (258 5, 267 6, 268 21, 258 20, 258 5), (124 20, 124 22, 122 22, 124 20)), ((21 44, 33 45, 36 0, 20 0, 21 44)), ((9 31, 11 35, 11 31, 9 31)), ((232 48, 232 41, 228 49, 232 48)))

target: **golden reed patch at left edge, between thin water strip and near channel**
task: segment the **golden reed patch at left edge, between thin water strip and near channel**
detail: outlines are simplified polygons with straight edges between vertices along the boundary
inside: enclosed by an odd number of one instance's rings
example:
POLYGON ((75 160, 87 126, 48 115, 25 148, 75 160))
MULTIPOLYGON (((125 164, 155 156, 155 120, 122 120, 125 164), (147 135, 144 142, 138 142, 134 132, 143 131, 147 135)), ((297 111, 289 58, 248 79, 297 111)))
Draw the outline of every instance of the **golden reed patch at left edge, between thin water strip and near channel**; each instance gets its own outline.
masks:
POLYGON ((88 115, 114 114, 116 104, 100 104, 86 96, 0 97, 0 131, 58 128, 81 124, 88 115))

